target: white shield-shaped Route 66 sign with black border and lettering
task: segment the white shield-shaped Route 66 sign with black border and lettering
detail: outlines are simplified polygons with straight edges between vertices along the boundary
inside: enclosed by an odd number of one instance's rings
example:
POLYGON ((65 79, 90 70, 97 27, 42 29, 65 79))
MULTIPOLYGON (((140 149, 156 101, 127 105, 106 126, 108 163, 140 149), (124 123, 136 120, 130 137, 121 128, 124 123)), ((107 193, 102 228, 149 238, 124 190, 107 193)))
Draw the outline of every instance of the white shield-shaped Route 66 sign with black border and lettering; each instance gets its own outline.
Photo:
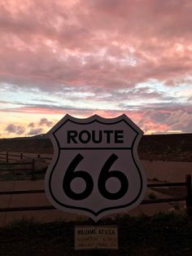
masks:
POLYGON ((56 208, 98 221, 142 201, 146 177, 137 156, 142 130, 129 117, 66 115, 49 135, 55 154, 45 188, 56 208))

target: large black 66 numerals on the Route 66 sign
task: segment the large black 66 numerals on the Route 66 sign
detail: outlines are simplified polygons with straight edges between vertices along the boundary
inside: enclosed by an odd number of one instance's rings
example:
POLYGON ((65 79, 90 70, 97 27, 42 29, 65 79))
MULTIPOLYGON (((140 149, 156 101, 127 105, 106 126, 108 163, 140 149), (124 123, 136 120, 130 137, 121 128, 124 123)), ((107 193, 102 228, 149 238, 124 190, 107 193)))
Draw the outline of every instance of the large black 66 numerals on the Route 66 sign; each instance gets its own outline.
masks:
MULTIPOLYGON (((66 196, 72 200, 83 200, 88 197, 94 189, 94 181, 91 175, 85 170, 76 170, 76 166, 84 159, 81 154, 76 155, 76 157, 69 164, 68 169, 63 178, 63 191, 66 196), (76 170, 76 171, 75 171, 76 170), (85 190, 80 193, 72 191, 71 183, 73 179, 81 178, 85 181, 85 190)), ((116 154, 111 154, 111 156, 104 163, 103 168, 98 176, 98 191, 101 195, 109 200, 117 200, 125 195, 129 188, 129 182, 127 177, 120 170, 111 170, 111 166, 118 159, 116 154), (107 179, 116 178, 120 181, 120 190, 118 192, 109 192, 106 188, 107 179)))

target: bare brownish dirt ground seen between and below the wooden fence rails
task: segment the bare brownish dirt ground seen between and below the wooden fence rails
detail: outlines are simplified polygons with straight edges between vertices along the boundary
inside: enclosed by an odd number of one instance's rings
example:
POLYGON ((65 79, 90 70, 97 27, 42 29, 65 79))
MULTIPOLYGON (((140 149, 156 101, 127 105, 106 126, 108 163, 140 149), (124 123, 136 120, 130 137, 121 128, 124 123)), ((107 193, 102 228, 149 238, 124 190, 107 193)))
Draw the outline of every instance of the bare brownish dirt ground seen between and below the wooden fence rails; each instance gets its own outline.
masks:
MULTIPOLYGON (((146 171, 148 183, 185 182, 185 174, 192 174, 192 162, 142 161, 142 165, 146 171)), ((44 180, 0 181, 0 187, 0 191, 44 189, 44 180)), ((148 188, 145 199, 160 199, 177 196, 186 196, 186 188, 148 188)), ((50 202, 46 199, 46 195, 44 193, 1 196, 0 201, 0 208, 38 205, 50 205, 50 202)), ((140 214, 153 215, 159 211, 168 213, 171 210, 177 213, 185 212, 185 201, 139 205, 136 209, 122 214, 130 214, 131 216, 138 216, 140 214)), ((23 216, 25 218, 34 218, 42 222, 52 222, 59 218, 64 218, 67 221, 86 219, 85 216, 68 214, 60 210, 2 212, 0 213, 0 226, 4 226, 14 219, 19 219, 23 216)), ((114 218, 114 215, 111 216, 111 218, 114 218)))

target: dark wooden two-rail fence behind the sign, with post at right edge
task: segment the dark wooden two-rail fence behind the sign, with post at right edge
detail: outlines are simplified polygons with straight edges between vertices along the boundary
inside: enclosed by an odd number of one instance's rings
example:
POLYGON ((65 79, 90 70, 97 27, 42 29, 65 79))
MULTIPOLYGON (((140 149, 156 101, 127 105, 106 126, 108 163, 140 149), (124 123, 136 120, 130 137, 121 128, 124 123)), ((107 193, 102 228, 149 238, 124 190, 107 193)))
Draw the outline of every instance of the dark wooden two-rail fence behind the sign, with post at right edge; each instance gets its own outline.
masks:
MULTIPOLYGON (((185 183, 154 183, 147 184, 147 188, 158 188, 158 187, 185 187, 186 196, 180 197, 170 197, 170 198, 160 198, 154 200, 143 200, 142 205, 146 204, 159 204, 172 201, 185 201, 186 212, 192 216, 192 187, 191 187, 191 175, 188 174, 185 176, 185 183)), ((45 193, 45 190, 15 190, 15 191, 4 191, 0 192, 0 196, 3 195, 15 195, 15 194, 35 194, 35 193, 45 193)), ((30 210, 55 210, 55 207, 52 205, 42 205, 42 206, 19 206, 19 207, 9 207, 9 208, 0 208, 0 212, 13 212, 13 211, 30 211, 30 210)))

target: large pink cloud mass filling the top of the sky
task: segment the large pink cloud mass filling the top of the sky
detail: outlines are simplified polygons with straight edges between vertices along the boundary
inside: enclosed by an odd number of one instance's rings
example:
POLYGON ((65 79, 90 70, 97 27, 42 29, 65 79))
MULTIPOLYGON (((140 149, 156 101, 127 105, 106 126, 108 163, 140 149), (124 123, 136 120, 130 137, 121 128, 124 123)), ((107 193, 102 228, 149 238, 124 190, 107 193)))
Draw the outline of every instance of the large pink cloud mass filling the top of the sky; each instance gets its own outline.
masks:
POLYGON ((20 5, 2 1, 1 82, 46 91, 133 88, 150 78, 177 81, 191 73, 189 1, 20 5))

